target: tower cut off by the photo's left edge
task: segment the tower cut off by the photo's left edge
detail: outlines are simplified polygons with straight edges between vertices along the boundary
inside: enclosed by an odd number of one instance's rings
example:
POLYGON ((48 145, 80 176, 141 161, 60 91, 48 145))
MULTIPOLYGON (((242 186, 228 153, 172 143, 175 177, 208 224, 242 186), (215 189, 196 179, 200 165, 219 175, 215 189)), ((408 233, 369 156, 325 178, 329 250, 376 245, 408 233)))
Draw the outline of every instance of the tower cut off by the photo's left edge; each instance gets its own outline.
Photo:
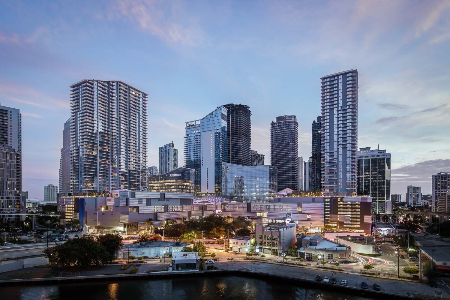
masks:
MULTIPOLYGON (((22 114, 17 108, 0 106, 0 212, 26 209, 22 191, 22 114)), ((0 215, 0 223, 18 224, 16 215, 0 215)))

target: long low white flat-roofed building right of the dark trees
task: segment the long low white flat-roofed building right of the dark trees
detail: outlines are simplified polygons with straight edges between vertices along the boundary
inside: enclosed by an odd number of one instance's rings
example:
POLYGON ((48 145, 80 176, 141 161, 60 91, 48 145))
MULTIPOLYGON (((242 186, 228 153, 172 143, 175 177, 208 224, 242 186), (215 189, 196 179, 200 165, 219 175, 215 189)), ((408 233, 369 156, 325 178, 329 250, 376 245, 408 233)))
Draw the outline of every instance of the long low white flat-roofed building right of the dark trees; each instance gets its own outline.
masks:
POLYGON ((169 241, 148 241, 136 244, 124 243, 119 250, 119 258, 127 259, 130 255, 136 257, 148 256, 154 257, 156 255, 174 256, 176 253, 180 253, 183 247, 192 247, 192 244, 182 242, 169 242, 169 241))

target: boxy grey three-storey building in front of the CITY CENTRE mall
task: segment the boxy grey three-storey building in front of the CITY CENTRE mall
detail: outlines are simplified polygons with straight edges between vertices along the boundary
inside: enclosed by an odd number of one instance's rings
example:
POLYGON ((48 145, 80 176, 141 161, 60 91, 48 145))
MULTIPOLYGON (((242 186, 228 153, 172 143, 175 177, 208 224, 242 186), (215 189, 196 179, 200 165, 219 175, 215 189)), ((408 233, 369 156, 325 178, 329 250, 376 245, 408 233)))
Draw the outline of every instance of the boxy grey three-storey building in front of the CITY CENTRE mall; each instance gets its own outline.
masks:
POLYGON ((267 226, 255 225, 255 242, 259 252, 272 255, 281 255, 294 246, 296 225, 268 224, 267 226))

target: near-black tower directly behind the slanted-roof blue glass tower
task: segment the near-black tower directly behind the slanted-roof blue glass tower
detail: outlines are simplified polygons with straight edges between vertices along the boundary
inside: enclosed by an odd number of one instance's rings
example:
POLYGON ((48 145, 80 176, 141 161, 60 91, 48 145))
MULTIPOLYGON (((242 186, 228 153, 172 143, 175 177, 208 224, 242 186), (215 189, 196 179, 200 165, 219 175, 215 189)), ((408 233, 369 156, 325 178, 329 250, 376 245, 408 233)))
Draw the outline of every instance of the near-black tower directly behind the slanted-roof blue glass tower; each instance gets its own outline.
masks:
POLYGON ((250 108, 244 104, 225 104, 227 111, 227 157, 229 163, 252 166, 250 146, 251 122, 250 108))

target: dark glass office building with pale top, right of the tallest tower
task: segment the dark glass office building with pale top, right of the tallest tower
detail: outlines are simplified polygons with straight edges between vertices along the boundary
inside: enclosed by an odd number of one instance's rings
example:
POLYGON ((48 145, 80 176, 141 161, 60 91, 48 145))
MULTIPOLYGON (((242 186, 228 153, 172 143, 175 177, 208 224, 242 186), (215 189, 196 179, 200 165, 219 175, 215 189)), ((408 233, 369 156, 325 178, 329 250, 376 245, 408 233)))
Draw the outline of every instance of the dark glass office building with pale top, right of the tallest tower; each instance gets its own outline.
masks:
POLYGON ((385 214, 391 195, 391 153, 360 148, 358 158, 358 195, 372 196, 372 214, 385 214))

